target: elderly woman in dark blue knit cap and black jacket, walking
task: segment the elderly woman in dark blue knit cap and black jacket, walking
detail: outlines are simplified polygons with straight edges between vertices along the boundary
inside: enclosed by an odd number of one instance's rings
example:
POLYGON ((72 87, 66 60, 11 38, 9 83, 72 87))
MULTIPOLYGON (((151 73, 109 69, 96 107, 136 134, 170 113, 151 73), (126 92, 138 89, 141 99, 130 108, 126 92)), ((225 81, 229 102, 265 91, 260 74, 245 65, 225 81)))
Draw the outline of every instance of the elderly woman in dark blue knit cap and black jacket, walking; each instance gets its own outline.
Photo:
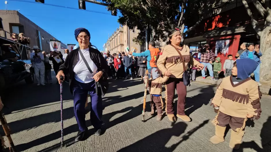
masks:
POLYGON ((101 135, 103 107, 101 94, 96 93, 95 82, 100 82, 101 85, 105 84, 102 82, 107 82, 108 65, 103 55, 97 49, 90 47, 88 30, 77 28, 74 35, 80 47, 67 55, 56 77, 61 83, 60 76, 69 74, 69 89, 74 96, 74 114, 79 127, 75 141, 81 141, 88 130, 85 121, 85 102, 88 92, 91 97, 90 121, 96 130, 95 134, 101 135))

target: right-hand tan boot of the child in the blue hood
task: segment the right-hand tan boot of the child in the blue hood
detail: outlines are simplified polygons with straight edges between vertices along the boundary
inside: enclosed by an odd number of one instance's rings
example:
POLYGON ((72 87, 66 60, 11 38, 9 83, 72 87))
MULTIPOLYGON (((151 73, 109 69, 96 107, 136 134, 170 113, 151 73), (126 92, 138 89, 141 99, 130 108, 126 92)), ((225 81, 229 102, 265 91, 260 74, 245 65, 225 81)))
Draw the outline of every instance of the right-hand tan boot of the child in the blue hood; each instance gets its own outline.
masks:
POLYGON ((229 141, 229 147, 232 149, 239 149, 243 136, 244 136, 243 130, 235 132, 234 130, 231 129, 231 140, 229 141))

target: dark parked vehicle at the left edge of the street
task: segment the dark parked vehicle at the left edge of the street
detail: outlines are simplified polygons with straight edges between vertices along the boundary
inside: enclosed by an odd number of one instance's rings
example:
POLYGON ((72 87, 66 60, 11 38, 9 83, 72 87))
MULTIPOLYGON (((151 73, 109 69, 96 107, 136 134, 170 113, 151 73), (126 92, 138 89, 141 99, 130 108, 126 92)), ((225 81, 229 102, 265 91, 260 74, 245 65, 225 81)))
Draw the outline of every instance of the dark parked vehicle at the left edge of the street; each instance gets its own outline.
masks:
POLYGON ((34 69, 28 59, 30 47, 0 36, 0 94, 13 83, 34 82, 34 69))

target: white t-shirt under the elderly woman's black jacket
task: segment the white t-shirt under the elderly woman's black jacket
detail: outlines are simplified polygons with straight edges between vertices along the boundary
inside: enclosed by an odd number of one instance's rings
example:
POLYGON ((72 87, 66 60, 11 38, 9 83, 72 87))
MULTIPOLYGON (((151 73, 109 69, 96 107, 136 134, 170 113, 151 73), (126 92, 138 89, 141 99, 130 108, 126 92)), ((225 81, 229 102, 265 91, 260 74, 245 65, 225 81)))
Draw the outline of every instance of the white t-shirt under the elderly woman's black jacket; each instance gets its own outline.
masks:
POLYGON ((84 63, 80 53, 78 52, 79 61, 74 66, 74 73, 75 73, 74 78, 78 82, 89 83, 94 80, 92 79, 92 77, 97 73, 98 68, 90 58, 89 48, 81 50, 81 51, 93 73, 91 74, 89 72, 89 69, 86 67, 86 64, 84 63))

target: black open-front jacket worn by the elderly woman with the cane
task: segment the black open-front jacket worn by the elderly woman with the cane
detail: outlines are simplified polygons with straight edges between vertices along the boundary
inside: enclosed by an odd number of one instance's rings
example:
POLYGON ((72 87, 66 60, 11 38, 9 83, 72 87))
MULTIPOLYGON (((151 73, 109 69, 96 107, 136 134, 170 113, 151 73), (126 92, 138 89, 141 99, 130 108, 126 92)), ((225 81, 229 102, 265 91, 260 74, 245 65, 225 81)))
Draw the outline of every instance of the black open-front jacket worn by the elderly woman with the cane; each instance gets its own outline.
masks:
MULTIPOLYGON (((79 51, 79 48, 72 50, 67 55, 65 62, 59 67, 59 71, 62 70, 65 75, 69 74, 69 89, 70 89, 71 93, 73 93, 73 85, 72 84, 75 80, 74 66, 77 64, 77 62, 79 60, 79 52, 78 51, 79 51)), ((89 54, 90 54, 91 60, 97 66, 98 71, 103 72, 103 78, 107 78, 108 65, 107 65, 107 62, 104 59, 103 55, 101 54, 101 52, 99 52, 97 49, 89 47, 89 54)))

